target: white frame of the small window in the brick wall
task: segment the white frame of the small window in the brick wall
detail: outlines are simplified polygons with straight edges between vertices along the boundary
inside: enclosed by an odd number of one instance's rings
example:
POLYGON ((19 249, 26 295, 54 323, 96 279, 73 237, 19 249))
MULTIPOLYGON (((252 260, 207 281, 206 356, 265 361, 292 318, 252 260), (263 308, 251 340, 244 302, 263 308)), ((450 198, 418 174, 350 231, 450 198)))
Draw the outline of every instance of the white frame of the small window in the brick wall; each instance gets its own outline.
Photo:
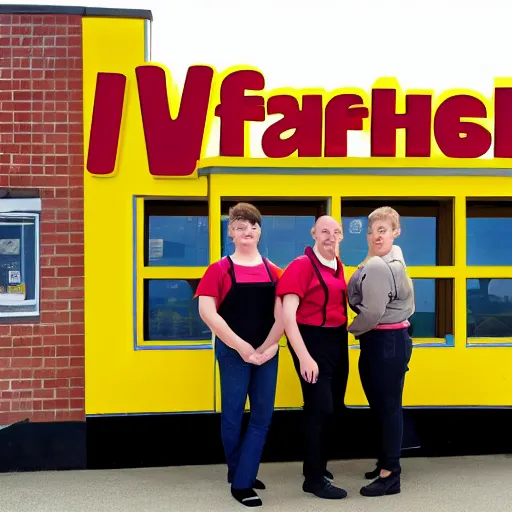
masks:
MULTIPOLYGON (((0 218, 34 219, 34 299, 9 304, 12 307, 35 306, 34 311, 0 311, 0 323, 18 323, 19 320, 37 322, 41 316, 41 199, 40 198, 0 198, 0 218)), ((2 304, 2 306, 7 304, 2 304)))

